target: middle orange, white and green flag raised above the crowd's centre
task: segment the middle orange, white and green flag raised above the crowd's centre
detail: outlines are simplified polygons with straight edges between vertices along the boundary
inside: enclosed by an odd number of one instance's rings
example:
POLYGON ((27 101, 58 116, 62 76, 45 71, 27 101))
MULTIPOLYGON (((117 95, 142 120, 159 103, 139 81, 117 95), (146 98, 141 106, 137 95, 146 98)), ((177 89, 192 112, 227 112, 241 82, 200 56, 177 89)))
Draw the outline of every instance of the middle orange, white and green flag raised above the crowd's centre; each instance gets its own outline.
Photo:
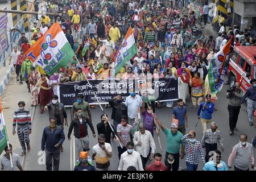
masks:
POLYGON ((120 71, 120 69, 137 53, 137 47, 134 40, 133 32, 131 31, 131 26, 127 31, 125 38, 121 46, 117 51, 117 58, 115 60, 115 75, 120 71))

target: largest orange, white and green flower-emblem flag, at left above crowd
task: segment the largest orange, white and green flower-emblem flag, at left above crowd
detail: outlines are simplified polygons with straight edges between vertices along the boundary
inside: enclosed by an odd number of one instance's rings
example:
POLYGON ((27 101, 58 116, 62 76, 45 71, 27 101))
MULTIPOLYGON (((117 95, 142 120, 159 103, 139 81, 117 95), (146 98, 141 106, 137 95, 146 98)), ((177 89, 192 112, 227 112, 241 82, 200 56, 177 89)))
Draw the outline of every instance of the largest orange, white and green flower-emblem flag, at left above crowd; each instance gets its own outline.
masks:
POLYGON ((34 46, 26 52, 28 59, 44 69, 47 75, 52 75, 68 64, 75 55, 58 22, 38 39, 34 46))

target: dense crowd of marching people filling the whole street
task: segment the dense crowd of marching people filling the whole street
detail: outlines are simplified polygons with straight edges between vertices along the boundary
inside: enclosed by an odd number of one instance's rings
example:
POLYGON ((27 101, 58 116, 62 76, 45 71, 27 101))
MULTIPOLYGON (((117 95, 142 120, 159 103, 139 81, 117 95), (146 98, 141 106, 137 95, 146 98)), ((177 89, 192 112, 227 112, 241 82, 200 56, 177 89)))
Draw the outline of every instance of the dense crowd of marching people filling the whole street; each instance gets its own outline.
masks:
MULTIPOLYGON (((40 113, 49 111, 49 126, 43 131, 42 151, 46 151, 47 170, 59 169, 60 152, 63 151, 64 124, 68 126, 65 107, 60 103, 57 96, 57 87, 64 82, 82 80, 96 80, 113 78, 111 71, 115 66, 115 59, 122 40, 129 27, 136 42, 138 52, 128 63, 120 69, 114 78, 127 80, 134 78, 174 78, 179 80, 179 100, 173 107, 173 101, 167 101, 166 107, 173 111, 173 123, 171 129, 165 127, 155 113, 155 107, 163 107, 158 102, 155 106, 144 103, 142 97, 131 91, 130 96, 122 103, 122 96, 113 97, 109 106, 113 107, 110 127, 110 118, 101 115, 101 123, 97 125, 98 144, 92 148, 92 158, 88 154, 89 137, 88 126, 96 137, 96 131, 92 125, 92 115, 89 105, 82 100, 82 95, 77 96, 77 102, 72 106, 72 121, 69 125, 68 139, 71 139, 74 130, 77 154, 80 159, 75 170, 108 170, 112 157, 113 136, 119 142, 118 170, 173 170, 179 169, 179 160, 185 156, 187 170, 196 171, 199 164, 199 155, 203 161, 205 171, 226 171, 234 162, 236 170, 247 170, 249 166, 254 168, 253 145, 247 142, 247 135, 240 135, 240 143, 234 146, 229 156, 228 165, 221 160, 221 152, 217 150, 217 143, 223 151, 223 139, 217 130, 217 123, 212 122, 212 114, 217 110, 214 101, 217 95, 210 93, 209 85, 205 84, 208 79, 208 69, 211 59, 214 57, 229 39, 232 46, 249 46, 256 43, 253 27, 247 30, 239 30, 239 27, 230 23, 230 14, 225 17, 221 14, 219 19, 219 31, 216 39, 213 35, 193 35, 193 27, 199 20, 196 19, 195 11, 181 8, 173 1, 80 1, 64 4, 62 1, 43 2, 50 12, 63 11, 61 17, 44 15, 39 24, 34 23, 31 28, 32 42, 28 43, 25 34, 22 34, 18 46, 14 47, 10 56, 10 64, 13 64, 16 72, 16 80, 23 84, 26 82, 28 92, 31 92, 31 106, 40 105, 40 113), (55 22, 59 22, 69 44, 76 56, 69 64, 53 75, 48 76, 43 69, 33 67, 25 52, 38 41, 55 22), (84 51, 84 47, 89 46, 84 51), (11 62, 13 60, 13 62, 11 62), (194 130, 186 131, 188 127, 187 107, 188 96, 191 97, 193 107, 197 109, 197 117, 201 119, 203 138, 196 140, 194 130), (132 126, 137 119, 138 107, 142 109, 142 123, 139 130, 131 132, 132 126), (175 123, 175 121, 179 121, 175 123), (65 121, 65 123, 64 123, 65 121), (210 129, 209 129, 210 123, 210 129), (162 154, 155 152, 156 146, 153 139, 154 128, 159 125, 166 135, 166 155, 164 164, 162 154), (114 131, 112 131, 112 128, 114 131), (54 135, 53 135, 54 134, 54 135), (136 151, 134 150, 136 147, 136 151), (206 154, 204 155, 203 148, 206 154), (181 152, 180 152, 181 151, 181 152), (209 160, 210 151, 214 151, 214 160, 209 160), (239 157, 238 157, 239 156, 239 157), (154 162, 146 166, 147 160, 154 162), (96 161, 96 168, 92 161, 96 161), (208 162, 209 161, 209 162, 208 162)), ((207 3, 203 7, 204 20, 208 13, 207 3)), ((204 22, 205 24, 207 22, 204 22)), ((256 81, 251 80, 251 89, 243 96, 240 83, 236 83, 236 90, 228 93, 229 99, 229 124, 230 135, 237 131, 241 103, 249 98, 255 103, 256 81), (238 111, 238 112, 237 112, 238 111)), ((17 133, 23 152, 30 150, 29 134, 31 133, 31 115, 24 109, 25 103, 19 102, 19 110, 14 113, 14 129, 17 123, 17 133), (26 148, 27 146, 27 148, 26 148)), ((253 126, 253 113, 256 107, 250 107, 250 125, 253 126)), ((248 108, 247 108, 248 110, 248 108)), ((159 131, 156 130, 156 135, 159 131)), ((6 148, 5 158, 9 158, 11 151, 6 148)), ((1 167, 5 168, 6 159, 1 159, 1 167)), ((20 164, 17 159, 17 167, 20 164)))

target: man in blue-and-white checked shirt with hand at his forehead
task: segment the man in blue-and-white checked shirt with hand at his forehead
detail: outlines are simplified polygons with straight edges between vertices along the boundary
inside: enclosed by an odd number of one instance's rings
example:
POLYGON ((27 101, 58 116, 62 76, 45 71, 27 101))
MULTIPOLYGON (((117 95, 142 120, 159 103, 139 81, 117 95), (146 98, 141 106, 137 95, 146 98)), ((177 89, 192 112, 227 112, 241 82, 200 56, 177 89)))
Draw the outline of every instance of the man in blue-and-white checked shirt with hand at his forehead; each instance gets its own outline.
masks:
POLYGON ((202 145, 196 140, 195 130, 189 131, 187 135, 182 137, 182 140, 185 143, 187 170, 196 171, 199 164, 199 154, 204 164, 205 159, 202 145))

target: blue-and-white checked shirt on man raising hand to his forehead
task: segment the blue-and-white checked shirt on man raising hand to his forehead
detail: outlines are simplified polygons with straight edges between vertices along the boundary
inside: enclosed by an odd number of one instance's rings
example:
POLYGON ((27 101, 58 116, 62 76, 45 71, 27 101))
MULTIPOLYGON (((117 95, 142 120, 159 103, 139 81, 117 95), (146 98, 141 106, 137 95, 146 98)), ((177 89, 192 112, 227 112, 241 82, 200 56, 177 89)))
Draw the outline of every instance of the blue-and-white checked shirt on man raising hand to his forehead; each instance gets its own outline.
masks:
POLYGON ((198 164, 199 163, 199 156, 200 153, 201 159, 203 163, 205 163, 204 159, 204 152, 202 145, 199 141, 195 141, 194 143, 188 140, 189 135, 184 135, 181 140, 185 143, 185 150, 186 150, 186 162, 189 164, 198 164))

